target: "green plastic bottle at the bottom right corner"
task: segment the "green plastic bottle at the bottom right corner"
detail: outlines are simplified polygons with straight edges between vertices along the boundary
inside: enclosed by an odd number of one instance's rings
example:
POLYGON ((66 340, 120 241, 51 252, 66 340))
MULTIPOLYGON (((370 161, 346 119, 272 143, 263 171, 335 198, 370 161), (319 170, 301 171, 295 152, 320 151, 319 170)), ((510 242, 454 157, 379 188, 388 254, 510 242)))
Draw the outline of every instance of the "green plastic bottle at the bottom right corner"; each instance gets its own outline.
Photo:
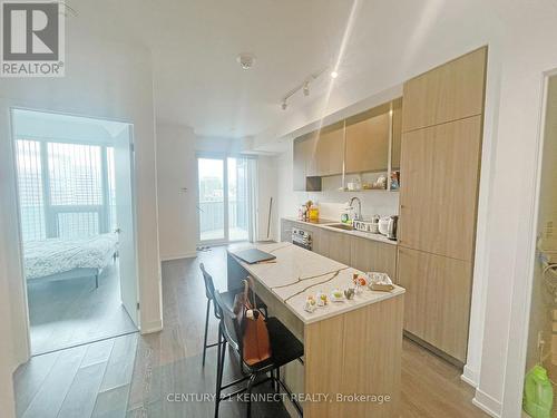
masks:
POLYGON ((522 408, 532 418, 551 418, 554 389, 547 370, 535 366, 525 378, 522 408))

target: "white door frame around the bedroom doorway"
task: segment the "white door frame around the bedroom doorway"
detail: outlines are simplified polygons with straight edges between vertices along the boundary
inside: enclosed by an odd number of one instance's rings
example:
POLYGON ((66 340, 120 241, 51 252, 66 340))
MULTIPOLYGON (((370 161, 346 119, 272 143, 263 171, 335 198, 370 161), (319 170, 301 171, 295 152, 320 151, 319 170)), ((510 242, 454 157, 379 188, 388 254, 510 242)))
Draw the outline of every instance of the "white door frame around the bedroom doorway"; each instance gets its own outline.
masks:
MULTIPOLYGON (((88 119, 94 119, 94 120, 106 120, 106 121, 116 121, 116 123, 121 123, 121 124, 127 124, 129 126, 129 146, 130 146, 130 153, 131 153, 131 166, 130 166, 130 177, 131 177, 131 196, 133 196, 133 202, 131 202, 131 212, 133 212, 133 223, 134 223, 134 250, 135 250, 135 263, 136 263, 136 289, 137 289, 137 295, 136 299, 139 301, 139 295, 141 294, 140 288, 141 288, 141 282, 139 281, 139 274, 138 272, 138 250, 137 250, 137 191, 136 191, 136 164, 135 164, 135 140, 134 140, 134 124, 129 120, 126 119, 119 119, 119 118, 114 118, 114 117, 100 117, 100 116, 89 116, 85 114, 79 114, 79 113, 71 113, 71 111, 59 111, 59 110, 52 110, 52 109, 45 109, 40 107, 35 107, 35 106, 27 106, 26 104, 19 104, 19 103, 13 103, 11 100, 1 100, 0 99, 0 108, 2 111, 7 111, 7 119, 8 119, 8 126, 4 129, 4 133, 8 135, 8 146, 10 148, 10 155, 9 155, 9 161, 11 164, 11 171, 12 171, 12 187, 14 192, 14 206, 16 206, 16 215, 17 215, 17 231, 18 231, 18 253, 19 253, 19 276, 14 278, 14 280, 19 281, 21 284, 21 290, 22 290, 22 297, 23 299, 21 302, 23 303, 23 307, 21 307, 25 310, 25 330, 21 330, 25 336, 26 336, 26 341, 25 341, 25 359, 23 358, 18 358, 18 361, 21 361, 21 363, 29 361, 31 358, 31 322, 30 322, 30 317, 29 317, 29 300, 27 297, 27 280, 25 278, 25 260, 23 260, 23 239, 22 239, 22 231, 21 231, 21 206, 20 206, 20 191, 19 191, 19 177, 18 177, 18 165, 17 165, 17 155, 16 155, 16 137, 14 137, 14 128, 13 128, 13 110, 29 110, 29 111, 37 111, 37 113, 45 113, 45 114, 55 114, 55 115, 62 115, 62 116, 74 116, 74 117, 81 117, 81 118, 88 118, 88 119)), ((1 135, 1 132, 0 132, 1 135)), ((139 303, 139 302, 138 302, 139 303)), ((140 304, 137 309, 137 327, 138 330, 140 331, 140 304)))

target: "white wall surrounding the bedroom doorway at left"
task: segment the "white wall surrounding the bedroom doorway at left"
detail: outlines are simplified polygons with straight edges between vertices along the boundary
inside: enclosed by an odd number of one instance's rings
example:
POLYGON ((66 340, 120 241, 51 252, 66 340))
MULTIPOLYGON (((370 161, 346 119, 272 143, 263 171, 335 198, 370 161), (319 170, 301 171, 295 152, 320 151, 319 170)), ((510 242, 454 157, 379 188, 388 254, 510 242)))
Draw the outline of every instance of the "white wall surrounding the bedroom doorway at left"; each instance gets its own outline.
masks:
POLYGON ((67 26, 65 78, 0 80, 0 204, 1 221, 7 225, 6 235, 0 237, 0 253, 7 260, 12 302, 12 334, 6 337, 13 343, 12 366, 27 360, 29 348, 23 332, 27 304, 17 245, 18 213, 9 129, 11 106, 134 124, 141 331, 162 327, 150 55, 129 45, 94 41, 95 36, 80 33, 79 23, 75 23, 75 27, 67 26))

